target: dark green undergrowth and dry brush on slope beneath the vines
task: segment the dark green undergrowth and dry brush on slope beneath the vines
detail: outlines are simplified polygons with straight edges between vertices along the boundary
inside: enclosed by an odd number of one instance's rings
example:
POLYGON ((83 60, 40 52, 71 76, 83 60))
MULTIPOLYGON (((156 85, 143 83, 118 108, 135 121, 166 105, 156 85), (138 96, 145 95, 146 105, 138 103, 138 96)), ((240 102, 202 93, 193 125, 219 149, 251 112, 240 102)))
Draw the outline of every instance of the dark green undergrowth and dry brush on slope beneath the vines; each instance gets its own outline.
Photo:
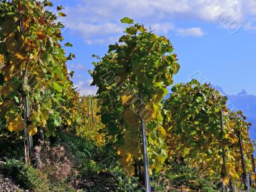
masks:
MULTIPOLYGON (((109 146, 96 147, 61 132, 42 145, 39 169, 24 164, 21 140, 0 135, 0 141, 0 161, 5 161, 0 164, 0 191, 143 191, 143 178, 125 175, 109 146), (11 151, 4 149, 6 143, 15 143, 11 151)), ((165 171, 152 175, 152 191, 215 191, 184 164, 166 165, 165 171)))

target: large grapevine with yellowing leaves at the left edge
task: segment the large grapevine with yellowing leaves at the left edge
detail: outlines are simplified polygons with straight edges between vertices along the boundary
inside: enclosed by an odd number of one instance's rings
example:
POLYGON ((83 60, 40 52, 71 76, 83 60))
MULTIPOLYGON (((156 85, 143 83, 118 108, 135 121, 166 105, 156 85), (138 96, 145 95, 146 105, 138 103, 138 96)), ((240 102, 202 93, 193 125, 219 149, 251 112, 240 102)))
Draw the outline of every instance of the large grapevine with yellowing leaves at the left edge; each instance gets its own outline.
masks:
MULTIPOLYGON (((61 122, 68 124, 67 102, 72 81, 66 62, 57 15, 45 10, 50 1, 1 1, 0 3, 0 116, 8 129, 24 129, 24 98, 29 98, 31 116, 28 134, 38 127, 53 131, 61 122)), ((63 14, 58 12, 61 17, 63 14)), ((65 44, 70 46, 71 44, 65 44)))

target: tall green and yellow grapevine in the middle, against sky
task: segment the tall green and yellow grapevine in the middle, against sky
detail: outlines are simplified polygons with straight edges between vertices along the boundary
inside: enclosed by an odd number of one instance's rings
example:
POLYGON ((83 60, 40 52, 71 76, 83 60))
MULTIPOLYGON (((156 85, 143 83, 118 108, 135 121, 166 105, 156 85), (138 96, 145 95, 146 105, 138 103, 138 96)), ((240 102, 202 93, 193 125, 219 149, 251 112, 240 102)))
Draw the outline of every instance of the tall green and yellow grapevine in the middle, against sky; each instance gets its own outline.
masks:
MULTIPOLYGON (((121 22, 133 24, 127 17, 121 22)), ((99 88, 101 120, 129 174, 134 173, 135 161, 141 159, 141 117, 147 123, 150 168, 161 170, 167 157, 161 102, 179 70, 172 52, 166 37, 133 24, 125 29, 119 43, 109 45, 108 54, 93 63, 92 85, 99 88), (143 101, 139 99, 140 85, 143 101)))

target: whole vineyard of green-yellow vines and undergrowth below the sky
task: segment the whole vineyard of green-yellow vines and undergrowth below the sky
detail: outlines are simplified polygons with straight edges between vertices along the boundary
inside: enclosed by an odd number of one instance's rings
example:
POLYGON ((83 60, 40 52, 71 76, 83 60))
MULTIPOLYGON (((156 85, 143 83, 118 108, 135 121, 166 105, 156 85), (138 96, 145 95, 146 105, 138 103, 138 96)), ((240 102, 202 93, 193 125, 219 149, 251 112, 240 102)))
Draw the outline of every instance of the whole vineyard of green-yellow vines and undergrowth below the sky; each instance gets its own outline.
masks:
POLYGON ((121 19, 84 96, 52 6, 0 1, 0 191, 256 190, 252 124, 211 84, 173 81, 168 38, 121 19))

